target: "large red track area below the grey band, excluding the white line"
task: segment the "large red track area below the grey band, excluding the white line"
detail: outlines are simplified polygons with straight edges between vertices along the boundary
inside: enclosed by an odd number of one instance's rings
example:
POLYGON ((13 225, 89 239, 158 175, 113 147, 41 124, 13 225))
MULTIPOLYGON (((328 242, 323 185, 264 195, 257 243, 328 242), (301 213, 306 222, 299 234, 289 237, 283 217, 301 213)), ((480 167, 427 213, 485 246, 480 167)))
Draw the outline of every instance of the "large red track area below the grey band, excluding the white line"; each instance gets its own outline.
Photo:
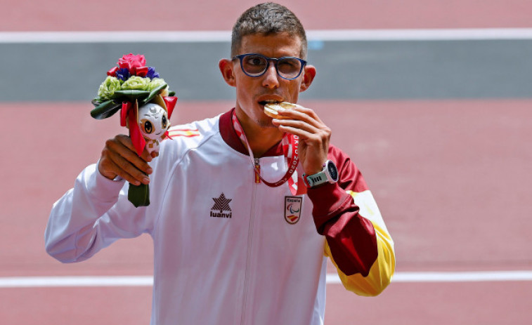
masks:
MULTIPOLYGON (((319 102, 315 109, 363 171, 396 242, 397 272, 532 270, 532 100, 319 102)), ((231 102, 180 102, 173 124, 231 102)), ((1 162, 0 277, 152 274, 148 236, 84 263, 44 252, 53 201, 96 161, 117 120, 90 103, 0 104, 18 135, 1 162), (59 118, 61 117, 61 118, 59 118)), ((330 272, 333 270, 330 269, 330 272)), ((531 281, 392 283, 377 298, 327 286, 326 324, 530 324, 531 281)), ((148 324, 149 287, 0 288, 6 324, 148 324), (31 311, 31 312, 28 312, 31 311)))

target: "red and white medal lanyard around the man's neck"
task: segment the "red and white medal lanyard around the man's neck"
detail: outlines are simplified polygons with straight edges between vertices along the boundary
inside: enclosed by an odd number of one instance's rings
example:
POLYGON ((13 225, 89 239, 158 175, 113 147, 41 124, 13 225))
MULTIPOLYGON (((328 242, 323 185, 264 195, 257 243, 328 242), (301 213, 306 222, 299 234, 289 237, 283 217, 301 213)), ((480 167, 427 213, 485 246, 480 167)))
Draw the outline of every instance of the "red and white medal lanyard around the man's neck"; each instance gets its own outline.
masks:
POLYGON ((253 168, 255 169, 255 175, 257 175, 260 180, 264 182, 264 184, 268 185, 269 187, 278 187, 280 185, 283 185, 286 181, 288 181, 288 187, 290 187, 290 192, 292 195, 295 195, 297 193, 297 165, 299 164, 299 156, 297 155, 297 147, 299 145, 299 137, 297 135, 292 135, 289 133, 285 133, 283 136, 283 140, 281 144, 283 145, 283 154, 287 158, 287 164, 288 169, 280 180, 277 182, 268 182, 261 176, 261 170, 259 164, 255 163, 255 158, 253 156, 253 152, 251 150, 251 147, 249 147, 249 142, 247 142, 246 135, 244 133, 244 130, 242 129, 242 126, 240 125, 240 121, 238 121, 235 111, 233 110, 232 114, 233 119, 233 127, 235 128, 236 134, 240 137, 240 140, 244 142, 247 146, 247 150, 249 151, 249 158, 251 159, 253 168))

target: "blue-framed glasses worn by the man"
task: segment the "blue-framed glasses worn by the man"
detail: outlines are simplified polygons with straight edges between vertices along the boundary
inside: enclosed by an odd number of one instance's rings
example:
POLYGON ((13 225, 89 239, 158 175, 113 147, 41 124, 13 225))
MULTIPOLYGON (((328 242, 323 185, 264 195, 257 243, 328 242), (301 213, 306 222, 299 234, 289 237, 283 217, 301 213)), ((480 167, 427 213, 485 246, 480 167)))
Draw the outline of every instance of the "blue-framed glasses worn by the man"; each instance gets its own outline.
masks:
POLYGON ((306 61, 293 56, 283 56, 283 58, 268 58, 267 56, 257 53, 247 53, 235 55, 233 60, 240 60, 242 71, 249 77, 260 77, 263 75, 273 61, 275 70, 279 77, 287 80, 293 80, 299 77, 301 71, 306 65, 306 61))

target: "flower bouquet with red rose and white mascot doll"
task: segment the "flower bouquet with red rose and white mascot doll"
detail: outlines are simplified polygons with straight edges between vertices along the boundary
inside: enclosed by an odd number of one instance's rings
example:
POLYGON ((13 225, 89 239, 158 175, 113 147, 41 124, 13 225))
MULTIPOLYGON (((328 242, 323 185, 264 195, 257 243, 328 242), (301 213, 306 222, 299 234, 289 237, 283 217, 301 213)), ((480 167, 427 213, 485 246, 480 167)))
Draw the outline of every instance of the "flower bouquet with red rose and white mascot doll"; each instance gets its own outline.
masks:
MULTIPOLYGON (((159 141, 169 138, 169 119, 177 97, 168 91, 168 84, 146 67, 144 55, 124 55, 107 72, 98 96, 92 100, 91 116, 106 119, 120 111, 120 125, 129 128, 129 136, 138 156, 146 148, 158 151, 159 141)), ((134 206, 150 204, 148 185, 129 184, 128 199, 134 206)))

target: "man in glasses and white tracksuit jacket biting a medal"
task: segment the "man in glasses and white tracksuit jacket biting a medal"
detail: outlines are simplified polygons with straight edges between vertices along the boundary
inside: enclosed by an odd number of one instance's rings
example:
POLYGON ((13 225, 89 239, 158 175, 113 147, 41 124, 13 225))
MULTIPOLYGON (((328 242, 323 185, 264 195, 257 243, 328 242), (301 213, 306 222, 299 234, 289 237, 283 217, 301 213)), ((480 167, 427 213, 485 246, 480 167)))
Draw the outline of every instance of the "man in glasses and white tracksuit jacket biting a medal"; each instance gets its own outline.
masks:
POLYGON ((138 157, 124 135, 108 140, 54 204, 46 249, 77 262, 148 232, 151 324, 323 324, 326 258, 347 289, 375 296, 394 272, 393 241, 316 112, 264 114, 268 103, 297 102, 316 75, 295 15, 271 3, 250 8, 233 27, 231 56, 219 68, 235 108, 173 128, 157 159, 138 157), (135 208, 117 178, 149 183, 150 205, 135 208))

